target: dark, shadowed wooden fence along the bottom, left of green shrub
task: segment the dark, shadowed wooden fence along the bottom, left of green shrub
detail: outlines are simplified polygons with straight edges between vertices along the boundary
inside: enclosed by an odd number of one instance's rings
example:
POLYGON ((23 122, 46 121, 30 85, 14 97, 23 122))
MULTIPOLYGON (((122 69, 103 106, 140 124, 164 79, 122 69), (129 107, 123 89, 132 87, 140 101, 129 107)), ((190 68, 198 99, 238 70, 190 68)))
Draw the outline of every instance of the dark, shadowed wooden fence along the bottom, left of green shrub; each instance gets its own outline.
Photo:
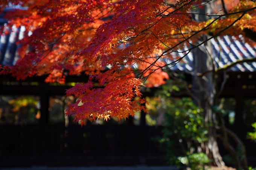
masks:
POLYGON ((0 125, 0 165, 164 165, 162 127, 0 125))

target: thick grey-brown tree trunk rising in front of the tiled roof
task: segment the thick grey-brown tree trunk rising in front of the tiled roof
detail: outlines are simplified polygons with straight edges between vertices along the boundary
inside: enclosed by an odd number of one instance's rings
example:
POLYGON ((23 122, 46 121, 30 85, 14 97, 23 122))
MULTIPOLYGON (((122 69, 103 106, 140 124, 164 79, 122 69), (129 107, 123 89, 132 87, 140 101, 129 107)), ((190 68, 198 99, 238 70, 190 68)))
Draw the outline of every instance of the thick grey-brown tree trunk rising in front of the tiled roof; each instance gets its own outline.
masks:
MULTIPOLYGON (((202 41, 206 38, 206 36, 202 36, 202 41)), ((204 109, 204 121, 205 124, 208 125, 208 141, 201 144, 201 147, 203 147, 201 149, 210 159, 214 160, 213 165, 221 167, 225 164, 219 154, 215 129, 216 116, 215 113, 212 112, 213 98, 215 95, 213 74, 209 73, 203 77, 197 76, 197 73, 213 69, 213 62, 204 46, 195 49, 194 56, 195 69, 192 80, 192 92, 200 101, 198 106, 204 109)))

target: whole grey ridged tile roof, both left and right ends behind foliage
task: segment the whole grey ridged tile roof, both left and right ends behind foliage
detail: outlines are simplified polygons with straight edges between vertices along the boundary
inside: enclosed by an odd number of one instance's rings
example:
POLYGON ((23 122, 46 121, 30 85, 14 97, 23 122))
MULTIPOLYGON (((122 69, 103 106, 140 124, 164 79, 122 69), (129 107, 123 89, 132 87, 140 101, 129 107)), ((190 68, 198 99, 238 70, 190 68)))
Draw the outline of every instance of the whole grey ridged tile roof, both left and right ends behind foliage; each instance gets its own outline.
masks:
MULTIPOLYGON (((5 27, 5 29, 9 29, 5 27)), ((24 35, 25 28, 16 28, 13 26, 9 29, 9 33, 0 36, 0 65, 15 65, 19 59, 18 40, 21 40, 24 35)), ((256 48, 251 47, 243 41, 243 37, 239 36, 236 38, 234 36, 222 36, 216 39, 210 40, 211 53, 215 62, 215 69, 222 68, 224 65, 236 62, 242 59, 251 59, 256 57, 256 48)), ((183 51, 187 51, 188 47, 184 47, 183 51)), ((180 50, 181 51, 181 50, 180 50)), ((175 59, 183 57, 186 52, 173 52, 172 56, 175 59)), ((196 54, 194 51, 188 53, 186 57, 182 59, 181 62, 177 62, 174 65, 170 65, 171 71, 187 72, 191 73, 194 71, 194 56, 196 54)), ((166 60, 166 63, 171 63, 173 61, 166 60)), ((228 71, 232 72, 256 72, 256 62, 244 62, 239 63, 230 68, 228 71)))

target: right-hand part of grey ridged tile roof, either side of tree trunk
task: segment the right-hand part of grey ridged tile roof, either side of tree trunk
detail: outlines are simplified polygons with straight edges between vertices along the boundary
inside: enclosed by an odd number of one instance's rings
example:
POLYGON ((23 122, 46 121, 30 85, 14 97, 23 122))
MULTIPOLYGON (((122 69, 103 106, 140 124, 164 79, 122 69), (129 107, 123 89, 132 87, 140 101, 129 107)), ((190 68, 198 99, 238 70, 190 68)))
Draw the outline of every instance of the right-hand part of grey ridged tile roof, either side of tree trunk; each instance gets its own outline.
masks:
MULTIPOLYGON (((238 62, 243 59, 254 59, 256 58, 256 48, 251 47, 249 44, 244 42, 242 35, 238 38, 235 36, 221 36, 216 39, 210 40, 211 54, 214 59, 215 70, 238 62)), ((201 50, 207 53, 206 48, 202 45, 201 50)), ((188 51, 188 47, 184 47, 182 51, 188 51)), ((194 71, 194 56, 196 55, 192 50, 190 53, 187 52, 173 52, 172 56, 174 59, 179 59, 186 54, 186 57, 181 62, 170 65, 169 68, 172 71, 187 72, 191 73, 194 71)), ((166 60, 167 64, 173 61, 166 60)), ((231 67, 227 71, 229 72, 256 72, 256 62, 243 62, 238 63, 231 67)))

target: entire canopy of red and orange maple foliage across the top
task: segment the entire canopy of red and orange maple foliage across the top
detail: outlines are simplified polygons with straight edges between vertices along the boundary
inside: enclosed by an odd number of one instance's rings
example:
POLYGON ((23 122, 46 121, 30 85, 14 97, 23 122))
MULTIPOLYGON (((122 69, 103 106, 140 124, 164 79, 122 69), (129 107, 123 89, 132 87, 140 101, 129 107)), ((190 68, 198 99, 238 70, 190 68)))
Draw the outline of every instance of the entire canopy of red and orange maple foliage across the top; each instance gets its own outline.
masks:
MULTIPOLYGON (((17 79, 47 74, 47 82, 65 82, 70 75, 85 73, 88 83, 67 90, 78 101, 67 114, 76 121, 119 119, 145 110, 143 86, 160 86, 168 79, 165 69, 200 46, 202 34, 209 39, 218 35, 256 31, 256 4, 250 0, 224 1, 163 0, 6 0, 0 8, 20 5, 27 10, 8 12, 8 26, 24 26, 20 40, 20 60, 14 66, 2 66, 1 74, 17 79), (212 13, 198 13, 210 3, 212 13), (195 16, 206 17, 198 22, 195 16), (32 35, 29 34, 32 33, 32 35), (30 35, 30 36, 29 36, 30 35), (184 46, 190 47, 183 50, 184 46), (99 82, 94 87, 93 82, 99 82)), ((2 33, 6 33, 2 29, 2 33)), ((245 38, 245 41, 249 41, 245 38)), ((251 43, 252 44, 252 43, 251 43)))

